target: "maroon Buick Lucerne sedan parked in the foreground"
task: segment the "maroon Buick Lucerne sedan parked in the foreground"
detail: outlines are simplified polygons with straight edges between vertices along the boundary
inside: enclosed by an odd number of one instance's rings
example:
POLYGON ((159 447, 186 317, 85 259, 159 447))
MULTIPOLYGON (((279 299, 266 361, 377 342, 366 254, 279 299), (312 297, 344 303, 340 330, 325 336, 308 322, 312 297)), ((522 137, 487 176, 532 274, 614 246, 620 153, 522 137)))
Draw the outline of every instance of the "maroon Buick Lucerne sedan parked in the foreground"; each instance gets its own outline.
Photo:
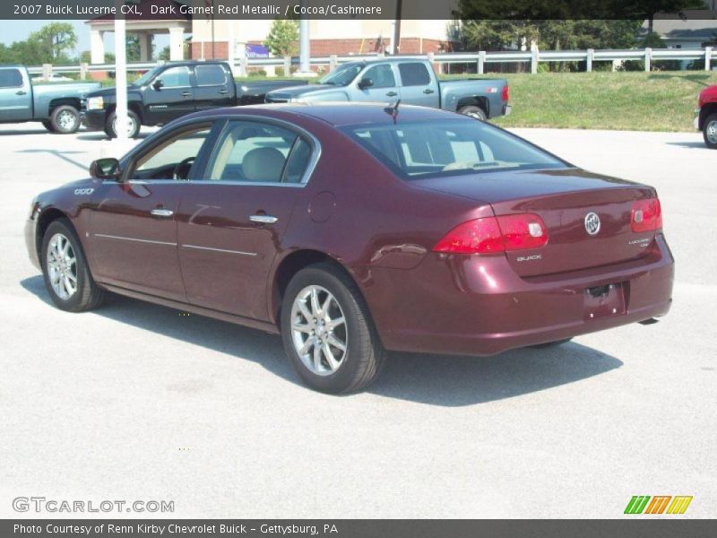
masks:
POLYGON ((341 393, 386 350, 491 355, 667 313, 652 187, 432 108, 183 117, 42 195, 30 258, 59 308, 106 291, 281 333, 341 393))

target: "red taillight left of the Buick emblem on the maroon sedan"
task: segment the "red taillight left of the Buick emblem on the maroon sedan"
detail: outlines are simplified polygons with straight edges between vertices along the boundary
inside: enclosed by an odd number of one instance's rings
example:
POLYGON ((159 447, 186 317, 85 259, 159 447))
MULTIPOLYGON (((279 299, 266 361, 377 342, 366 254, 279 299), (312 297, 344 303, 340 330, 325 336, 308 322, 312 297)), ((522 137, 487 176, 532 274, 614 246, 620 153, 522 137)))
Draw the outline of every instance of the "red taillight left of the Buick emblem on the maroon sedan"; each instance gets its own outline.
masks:
POLYGON ((463 222, 445 234, 433 249, 447 254, 486 255, 540 248, 547 242, 548 231, 542 219, 523 213, 463 222))

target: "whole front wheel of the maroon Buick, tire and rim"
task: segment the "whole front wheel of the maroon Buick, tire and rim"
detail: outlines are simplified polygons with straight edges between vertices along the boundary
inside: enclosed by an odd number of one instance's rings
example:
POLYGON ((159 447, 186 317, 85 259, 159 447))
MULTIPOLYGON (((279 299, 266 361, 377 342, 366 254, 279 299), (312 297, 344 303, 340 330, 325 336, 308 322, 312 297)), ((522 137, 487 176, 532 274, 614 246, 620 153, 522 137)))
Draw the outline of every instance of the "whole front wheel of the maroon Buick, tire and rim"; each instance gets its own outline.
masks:
POLYGON ((82 312, 99 306, 104 298, 92 279, 82 245, 69 221, 53 221, 42 238, 42 273, 45 287, 57 308, 82 312))

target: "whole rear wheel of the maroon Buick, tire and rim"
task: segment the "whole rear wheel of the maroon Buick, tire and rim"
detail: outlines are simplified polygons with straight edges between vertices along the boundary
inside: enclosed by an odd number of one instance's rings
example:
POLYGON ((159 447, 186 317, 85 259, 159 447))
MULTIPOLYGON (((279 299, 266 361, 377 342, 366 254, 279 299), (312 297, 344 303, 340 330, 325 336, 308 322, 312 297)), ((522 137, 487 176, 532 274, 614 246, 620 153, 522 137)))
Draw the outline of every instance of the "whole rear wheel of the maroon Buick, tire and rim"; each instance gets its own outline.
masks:
POLYGON ((384 361, 356 284, 329 264, 310 265, 289 282, 281 304, 281 338, 298 376, 325 393, 368 386, 384 361))

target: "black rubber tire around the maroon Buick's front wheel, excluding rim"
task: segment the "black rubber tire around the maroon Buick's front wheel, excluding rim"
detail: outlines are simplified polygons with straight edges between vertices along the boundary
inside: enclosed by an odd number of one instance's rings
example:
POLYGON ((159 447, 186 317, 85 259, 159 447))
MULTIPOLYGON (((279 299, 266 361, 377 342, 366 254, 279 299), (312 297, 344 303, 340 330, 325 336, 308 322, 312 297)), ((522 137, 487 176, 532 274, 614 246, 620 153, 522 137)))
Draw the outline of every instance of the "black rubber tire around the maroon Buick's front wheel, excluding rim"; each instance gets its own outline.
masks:
POLYGON ((77 234, 74 232, 70 221, 67 221, 66 219, 58 219, 50 223, 48 230, 45 231, 45 235, 42 237, 40 262, 42 264, 42 275, 45 278, 45 287, 57 308, 68 312, 83 312, 85 310, 97 308, 99 303, 102 302, 102 299, 104 299, 105 291, 99 289, 97 284, 92 279, 90 268, 87 265, 84 252, 82 251, 82 244, 80 243, 80 239, 77 238, 77 234), (75 291, 65 298, 61 297, 57 293, 50 282, 48 248, 50 247, 51 241, 57 234, 69 241, 75 260, 73 264, 76 282, 75 291))

